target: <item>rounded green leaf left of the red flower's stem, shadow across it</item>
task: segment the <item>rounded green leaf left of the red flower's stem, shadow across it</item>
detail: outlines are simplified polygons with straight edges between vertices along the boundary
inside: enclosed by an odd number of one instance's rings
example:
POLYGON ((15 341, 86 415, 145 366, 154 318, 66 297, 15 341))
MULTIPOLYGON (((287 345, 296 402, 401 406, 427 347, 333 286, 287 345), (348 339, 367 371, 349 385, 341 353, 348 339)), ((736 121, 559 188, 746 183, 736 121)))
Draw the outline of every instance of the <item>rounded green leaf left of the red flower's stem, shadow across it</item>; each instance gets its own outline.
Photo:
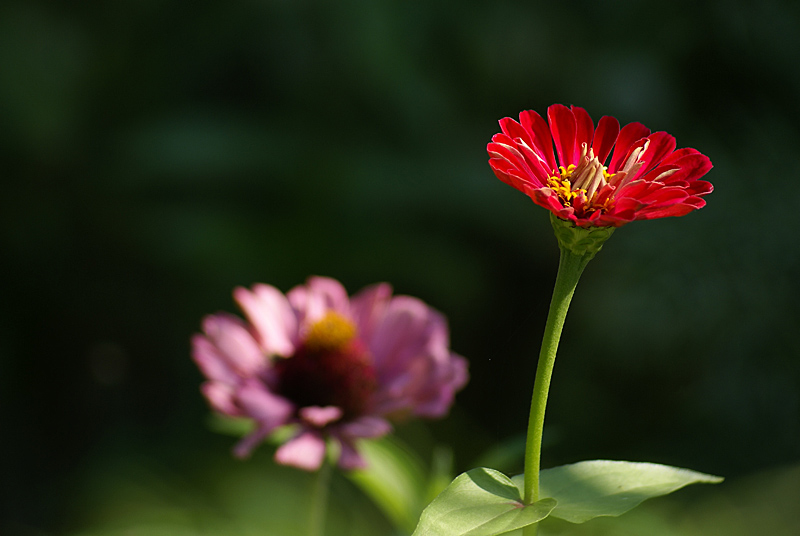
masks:
POLYGON ((506 475, 478 468, 462 473, 422 512, 412 536, 494 536, 546 518, 556 501, 525 506, 506 475))

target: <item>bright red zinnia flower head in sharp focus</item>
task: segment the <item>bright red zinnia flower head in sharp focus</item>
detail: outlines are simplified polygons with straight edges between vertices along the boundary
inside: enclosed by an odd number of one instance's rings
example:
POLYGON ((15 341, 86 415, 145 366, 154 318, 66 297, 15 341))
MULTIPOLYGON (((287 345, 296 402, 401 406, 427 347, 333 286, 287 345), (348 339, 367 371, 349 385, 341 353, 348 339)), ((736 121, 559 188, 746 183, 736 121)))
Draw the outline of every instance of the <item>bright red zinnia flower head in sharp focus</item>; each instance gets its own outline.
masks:
POLYGON ((713 190, 699 180, 712 167, 708 157, 676 151, 666 132, 651 134, 641 123, 620 129, 609 116, 595 128, 586 110, 561 104, 547 109, 547 120, 532 110, 519 123, 501 119, 489 164, 501 181, 577 226, 683 216, 705 206, 702 197, 713 190))

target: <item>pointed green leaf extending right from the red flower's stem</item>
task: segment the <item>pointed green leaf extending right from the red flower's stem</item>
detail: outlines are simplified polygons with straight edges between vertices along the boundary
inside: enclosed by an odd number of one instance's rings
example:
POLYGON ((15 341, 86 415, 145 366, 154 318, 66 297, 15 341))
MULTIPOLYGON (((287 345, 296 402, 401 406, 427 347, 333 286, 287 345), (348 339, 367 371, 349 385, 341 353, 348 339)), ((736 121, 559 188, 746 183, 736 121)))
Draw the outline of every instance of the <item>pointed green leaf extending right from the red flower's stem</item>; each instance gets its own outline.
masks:
MULTIPOLYGON (((599 516, 618 516, 652 497, 667 495, 689 484, 718 484, 723 478, 655 463, 592 460, 545 469, 539 496, 558 505, 552 517, 585 523, 599 516)), ((514 477, 522 489, 523 475, 514 477)))

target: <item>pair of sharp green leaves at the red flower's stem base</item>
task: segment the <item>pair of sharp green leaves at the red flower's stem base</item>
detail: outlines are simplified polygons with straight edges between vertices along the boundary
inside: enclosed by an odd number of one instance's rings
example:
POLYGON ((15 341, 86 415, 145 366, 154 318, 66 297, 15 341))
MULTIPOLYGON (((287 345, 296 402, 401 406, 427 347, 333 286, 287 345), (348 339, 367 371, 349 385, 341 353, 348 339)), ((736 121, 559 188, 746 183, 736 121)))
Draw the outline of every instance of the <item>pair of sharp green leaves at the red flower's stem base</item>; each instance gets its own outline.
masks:
POLYGON ((494 469, 472 469, 425 509, 412 536, 496 536, 548 516, 585 523, 619 516, 689 484, 722 480, 667 465, 592 460, 542 471, 539 496, 544 498, 525 506, 522 475, 510 479, 494 469))

